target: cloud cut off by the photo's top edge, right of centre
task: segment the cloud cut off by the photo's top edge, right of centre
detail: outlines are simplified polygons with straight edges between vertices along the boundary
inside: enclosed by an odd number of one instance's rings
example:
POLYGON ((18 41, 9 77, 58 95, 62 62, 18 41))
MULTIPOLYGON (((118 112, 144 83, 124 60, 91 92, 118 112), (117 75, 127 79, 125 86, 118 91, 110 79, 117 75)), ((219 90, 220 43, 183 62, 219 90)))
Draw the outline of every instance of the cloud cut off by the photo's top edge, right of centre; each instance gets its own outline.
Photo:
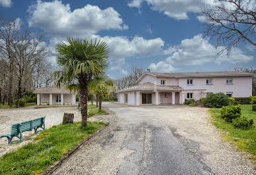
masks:
POLYGON ((177 20, 186 20, 187 13, 199 13, 203 3, 212 4, 212 0, 133 0, 128 3, 129 7, 140 8, 145 1, 154 11, 159 11, 177 20))

